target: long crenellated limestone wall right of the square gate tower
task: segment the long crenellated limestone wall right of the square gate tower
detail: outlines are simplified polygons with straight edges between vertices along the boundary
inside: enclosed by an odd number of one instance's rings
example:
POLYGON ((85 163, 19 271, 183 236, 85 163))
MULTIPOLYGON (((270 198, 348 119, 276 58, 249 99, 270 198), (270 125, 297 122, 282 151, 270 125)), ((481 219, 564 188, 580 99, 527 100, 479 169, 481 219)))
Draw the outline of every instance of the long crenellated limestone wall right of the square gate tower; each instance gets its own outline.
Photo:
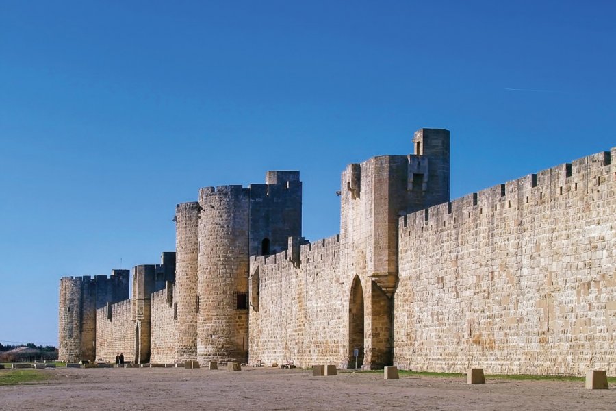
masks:
POLYGON ((616 375, 615 155, 400 219, 394 365, 616 375))

